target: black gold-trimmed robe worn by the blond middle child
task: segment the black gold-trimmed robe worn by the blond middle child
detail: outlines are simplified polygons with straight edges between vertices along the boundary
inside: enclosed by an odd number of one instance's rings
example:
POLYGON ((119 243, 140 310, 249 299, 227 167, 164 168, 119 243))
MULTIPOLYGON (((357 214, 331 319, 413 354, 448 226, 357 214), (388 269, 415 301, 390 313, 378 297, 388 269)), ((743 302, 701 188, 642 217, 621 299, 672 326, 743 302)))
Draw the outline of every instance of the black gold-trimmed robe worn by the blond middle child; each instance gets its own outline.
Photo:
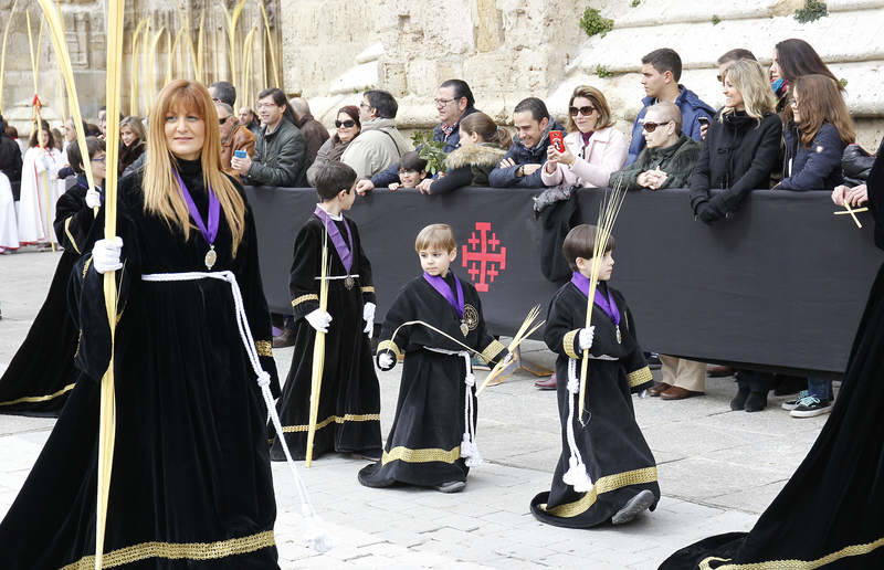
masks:
MULTIPOLYGON (((445 281, 452 292, 456 287, 453 279, 454 274, 449 272, 445 281)), ((404 355, 404 362, 396 418, 381 461, 359 472, 359 482, 366 486, 386 487, 396 482, 434 486, 466 481, 470 468, 461 457, 465 431, 466 362, 461 356, 427 349, 460 351, 464 348, 422 325, 399 328, 410 320, 423 320, 480 351, 487 362, 504 358, 506 348, 485 329, 482 303, 475 287, 470 282, 460 281, 466 336, 461 331, 461 318, 455 309, 422 276, 406 285, 387 313, 378 355, 387 352, 393 362, 404 355)), ((475 422, 475 386, 470 388, 470 398, 472 421, 475 422)))

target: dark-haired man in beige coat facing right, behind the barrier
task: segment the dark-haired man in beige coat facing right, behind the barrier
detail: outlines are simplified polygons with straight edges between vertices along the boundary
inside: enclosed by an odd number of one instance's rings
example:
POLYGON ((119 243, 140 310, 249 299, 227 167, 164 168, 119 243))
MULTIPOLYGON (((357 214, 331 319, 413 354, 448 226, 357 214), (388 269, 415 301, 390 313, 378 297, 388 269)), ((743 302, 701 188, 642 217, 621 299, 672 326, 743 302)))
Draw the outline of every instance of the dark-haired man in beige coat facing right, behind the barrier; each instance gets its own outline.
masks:
POLYGON ((356 170, 359 178, 372 177, 398 163, 402 155, 411 150, 409 141, 396 128, 398 110, 399 104, 386 91, 362 93, 359 104, 362 130, 340 156, 340 161, 356 170))

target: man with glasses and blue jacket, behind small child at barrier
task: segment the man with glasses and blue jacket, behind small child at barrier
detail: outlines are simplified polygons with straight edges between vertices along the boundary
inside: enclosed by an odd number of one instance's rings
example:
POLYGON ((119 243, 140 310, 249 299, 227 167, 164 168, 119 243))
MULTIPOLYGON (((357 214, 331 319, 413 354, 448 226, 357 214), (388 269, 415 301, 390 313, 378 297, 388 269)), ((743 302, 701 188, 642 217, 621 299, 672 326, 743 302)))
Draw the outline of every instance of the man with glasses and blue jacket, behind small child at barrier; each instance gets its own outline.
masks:
MULTIPOLYGON (((448 154, 461 145, 461 119, 475 113, 475 97, 470 89, 470 85, 463 80, 448 80, 442 82, 435 92, 433 99, 436 113, 439 113, 439 125, 433 128, 433 140, 442 142, 442 150, 448 154)), ((365 193, 373 188, 387 188, 392 182, 399 181, 399 161, 390 168, 378 172, 371 180, 360 180, 356 184, 356 191, 365 193)), ((429 191, 432 178, 424 179, 418 188, 429 191)))

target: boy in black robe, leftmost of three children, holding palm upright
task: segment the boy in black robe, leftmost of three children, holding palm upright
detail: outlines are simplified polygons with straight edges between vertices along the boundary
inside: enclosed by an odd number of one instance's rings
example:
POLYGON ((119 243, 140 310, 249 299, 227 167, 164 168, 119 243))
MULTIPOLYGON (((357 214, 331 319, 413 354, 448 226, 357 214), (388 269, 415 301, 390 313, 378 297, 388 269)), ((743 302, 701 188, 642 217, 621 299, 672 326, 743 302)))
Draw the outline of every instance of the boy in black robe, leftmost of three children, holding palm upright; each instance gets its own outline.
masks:
MULTIPOLYGON (((343 162, 312 169, 320 203, 295 239, 288 281, 295 318, 292 368, 276 402, 292 456, 307 450, 313 346, 316 331, 326 332, 325 367, 313 457, 325 452, 380 457, 380 387, 371 358, 375 286, 371 264, 362 251, 356 222, 341 212, 352 207, 356 172, 343 162), (323 236, 328 232, 328 307, 319 309, 323 236)), ((273 434, 273 426, 270 428, 273 434)), ((273 441, 273 461, 285 461, 273 441)))

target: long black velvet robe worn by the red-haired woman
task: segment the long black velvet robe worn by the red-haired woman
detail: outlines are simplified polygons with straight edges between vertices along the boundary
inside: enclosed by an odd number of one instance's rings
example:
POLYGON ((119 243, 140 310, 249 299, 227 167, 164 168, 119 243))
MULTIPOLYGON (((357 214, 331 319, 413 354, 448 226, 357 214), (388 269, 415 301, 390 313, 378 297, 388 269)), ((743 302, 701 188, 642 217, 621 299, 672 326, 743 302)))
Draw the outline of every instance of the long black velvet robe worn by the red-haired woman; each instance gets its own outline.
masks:
MULTIPOLYGON (((199 162, 181 161, 180 169, 206 215, 199 162)), ((116 444, 105 563, 277 568, 266 408, 234 321, 230 285, 143 282, 147 273, 206 271, 208 244, 196 230, 185 241, 145 213, 141 200, 139 179, 120 181, 125 266, 117 272, 116 444)), ((236 276, 261 366, 278 393, 251 210, 235 258, 223 211, 215 250, 214 270, 236 276)), ((0 522, 4 570, 87 567, 94 555, 98 379, 109 359, 109 329, 103 276, 91 255, 73 275, 83 331, 76 360, 85 376, 0 522)))

